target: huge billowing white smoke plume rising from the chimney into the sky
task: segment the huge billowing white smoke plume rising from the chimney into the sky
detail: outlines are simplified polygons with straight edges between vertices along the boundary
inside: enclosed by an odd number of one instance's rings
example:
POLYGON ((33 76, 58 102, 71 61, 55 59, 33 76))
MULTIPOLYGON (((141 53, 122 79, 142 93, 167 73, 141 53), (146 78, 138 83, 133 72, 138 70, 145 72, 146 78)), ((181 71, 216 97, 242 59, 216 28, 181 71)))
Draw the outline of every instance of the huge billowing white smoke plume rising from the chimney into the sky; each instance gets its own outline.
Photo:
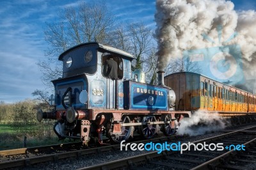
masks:
POLYGON ((181 58, 184 50, 237 44, 241 47, 245 79, 254 79, 254 10, 236 12, 234 4, 225 0, 156 0, 155 20, 158 70, 164 70, 171 59, 181 58), (222 26, 221 35, 217 31, 218 26, 222 26), (234 33, 237 35, 230 37, 234 33), (212 41, 206 40, 204 35, 212 41))

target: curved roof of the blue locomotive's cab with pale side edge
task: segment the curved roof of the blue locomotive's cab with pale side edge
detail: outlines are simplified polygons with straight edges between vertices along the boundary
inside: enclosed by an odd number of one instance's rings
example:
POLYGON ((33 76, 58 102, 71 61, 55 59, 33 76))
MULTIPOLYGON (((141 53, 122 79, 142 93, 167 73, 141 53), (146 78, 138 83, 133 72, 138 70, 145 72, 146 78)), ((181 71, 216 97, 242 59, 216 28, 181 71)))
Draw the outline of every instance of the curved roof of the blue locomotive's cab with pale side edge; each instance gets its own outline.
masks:
POLYGON ((70 52, 72 50, 75 50, 77 48, 86 47, 86 46, 98 46, 97 50, 103 50, 104 52, 111 52, 111 53, 114 53, 114 54, 118 54, 118 55, 121 55, 124 58, 129 59, 129 60, 135 59, 134 56, 132 56, 132 54, 129 54, 128 52, 125 52, 123 50, 115 49, 113 47, 102 45, 102 44, 97 43, 97 42, 88 42, 88 43, 81 43, 79 45, 76 45, 76 46, 71 47, 70 49, 66 50, 65 52, 60 54, 59 60, 62 61, 63 56, 65 56, 68 52, 70 52))

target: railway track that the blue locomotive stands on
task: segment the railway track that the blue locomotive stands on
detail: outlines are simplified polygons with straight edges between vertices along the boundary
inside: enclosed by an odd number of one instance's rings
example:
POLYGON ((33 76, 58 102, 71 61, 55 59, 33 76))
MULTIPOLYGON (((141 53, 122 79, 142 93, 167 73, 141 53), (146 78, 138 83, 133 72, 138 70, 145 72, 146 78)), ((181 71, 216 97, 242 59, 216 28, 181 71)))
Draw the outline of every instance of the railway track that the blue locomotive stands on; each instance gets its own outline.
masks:
MULTIPOLYGON (((150 141, 157 143, 170 141, 175 136, 158 137, 150 141)), ((147 143, 148 140, 135 141, 133 143, 147 143)), ((33 148, 20 148, 15 150, 0 151, 0 169, 13 167, 26 167, 42 162, 57 162, 58 160, 81 157, 83 155, 98 154, 105 151, 120 150, 120 144, 99 146, 95 148, 81 148, 81 143, 56 144, 49 146, 38 146, 33 148)))

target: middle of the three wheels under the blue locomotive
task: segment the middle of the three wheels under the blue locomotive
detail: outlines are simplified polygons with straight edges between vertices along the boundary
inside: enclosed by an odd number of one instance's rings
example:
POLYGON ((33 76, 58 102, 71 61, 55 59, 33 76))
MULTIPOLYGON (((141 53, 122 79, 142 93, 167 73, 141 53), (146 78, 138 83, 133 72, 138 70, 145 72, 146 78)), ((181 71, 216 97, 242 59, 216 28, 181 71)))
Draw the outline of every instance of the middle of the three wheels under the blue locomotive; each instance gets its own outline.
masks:
POLYGON ((155 116, 143 117, 141 122, 147 123, 147 125, 141 125, 141 134, 145 139, 151 139, 156 134, 156 125, 151 124, 154 121, 156 121, 155 116))

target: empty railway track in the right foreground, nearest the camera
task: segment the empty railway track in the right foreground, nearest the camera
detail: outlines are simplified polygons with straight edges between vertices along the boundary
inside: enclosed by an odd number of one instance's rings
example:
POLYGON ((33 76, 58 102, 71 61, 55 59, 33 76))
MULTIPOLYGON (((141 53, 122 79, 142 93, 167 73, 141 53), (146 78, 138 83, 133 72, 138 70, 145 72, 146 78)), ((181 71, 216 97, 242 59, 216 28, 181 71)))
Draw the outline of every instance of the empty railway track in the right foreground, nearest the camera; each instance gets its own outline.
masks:
MULTIPOLYGON (((184 151, 182 154, 177 151, 152 151, 134 157, 122 158, 96 166, 84 167, 81 169, 250 169, 246 164, 256 164, 256 126, 227 132, 226 134, 209 137, 199 143, 223 143, 223 146, 231 144, 243 144, 245 151, 228 150, 223 151, 184 151), (254 150, 254 151, 253 151, 254 150), (249 159, 250 158, 250 159, 249 159)), ((242 145, 241 145, 242 146, 242 145)))

